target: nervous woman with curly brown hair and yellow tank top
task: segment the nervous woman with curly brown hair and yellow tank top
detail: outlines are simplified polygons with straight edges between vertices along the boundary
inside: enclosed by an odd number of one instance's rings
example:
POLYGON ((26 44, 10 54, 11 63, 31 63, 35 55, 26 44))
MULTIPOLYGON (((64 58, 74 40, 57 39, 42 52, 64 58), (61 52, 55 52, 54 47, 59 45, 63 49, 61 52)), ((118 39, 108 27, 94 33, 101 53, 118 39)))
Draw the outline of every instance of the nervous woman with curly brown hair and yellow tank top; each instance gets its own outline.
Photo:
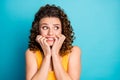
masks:
POLYGON ((26 51, 26 80, 79 80, 80 48, 72 46, 74 33, 60 7, 45 5, 32 23, 26 51))

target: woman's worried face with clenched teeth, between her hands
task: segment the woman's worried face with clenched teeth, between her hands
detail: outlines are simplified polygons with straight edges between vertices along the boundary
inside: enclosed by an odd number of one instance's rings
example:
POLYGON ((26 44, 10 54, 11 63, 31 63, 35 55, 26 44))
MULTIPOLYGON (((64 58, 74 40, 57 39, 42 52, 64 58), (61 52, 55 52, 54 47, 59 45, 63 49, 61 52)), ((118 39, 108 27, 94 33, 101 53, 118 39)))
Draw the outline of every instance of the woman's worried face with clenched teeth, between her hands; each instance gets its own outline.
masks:
POLYGON ((45 17, 39 22, 40 35, 47 39, 49 46, 52 46, 55 37, 62 33, 61 21, 57 17, 45 17))

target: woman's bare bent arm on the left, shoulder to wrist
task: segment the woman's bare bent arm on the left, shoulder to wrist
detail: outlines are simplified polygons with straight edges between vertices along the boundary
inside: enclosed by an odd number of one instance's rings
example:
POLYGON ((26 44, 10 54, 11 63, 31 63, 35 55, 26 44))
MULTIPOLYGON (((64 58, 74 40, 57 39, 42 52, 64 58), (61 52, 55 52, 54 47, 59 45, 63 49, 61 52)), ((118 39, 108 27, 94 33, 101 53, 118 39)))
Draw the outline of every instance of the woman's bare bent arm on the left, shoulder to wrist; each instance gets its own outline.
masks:
POLYGON ((50 66, 50 56, 43 58, 41 67, 37 70, 36 56, 29 49, 26 51, 26 80, 46 80, 50 66))

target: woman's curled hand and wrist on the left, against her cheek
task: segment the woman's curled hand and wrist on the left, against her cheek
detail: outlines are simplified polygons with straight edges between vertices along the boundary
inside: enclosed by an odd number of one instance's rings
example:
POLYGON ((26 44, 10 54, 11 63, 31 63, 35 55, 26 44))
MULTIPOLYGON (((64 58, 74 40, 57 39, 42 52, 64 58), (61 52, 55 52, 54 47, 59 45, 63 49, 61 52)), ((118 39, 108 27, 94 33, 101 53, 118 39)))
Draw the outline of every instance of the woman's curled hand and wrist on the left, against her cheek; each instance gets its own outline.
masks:
POLYGON ((46 42, 46 38, 44 36, 41 35, 37 35, 36 37, 36 41, 40 44, 40 46, 43 49, 44 55, 45 56, 49 56, 51 57, 51 50, 50 50, 50 46, 48 45, 48 43, 46 42))

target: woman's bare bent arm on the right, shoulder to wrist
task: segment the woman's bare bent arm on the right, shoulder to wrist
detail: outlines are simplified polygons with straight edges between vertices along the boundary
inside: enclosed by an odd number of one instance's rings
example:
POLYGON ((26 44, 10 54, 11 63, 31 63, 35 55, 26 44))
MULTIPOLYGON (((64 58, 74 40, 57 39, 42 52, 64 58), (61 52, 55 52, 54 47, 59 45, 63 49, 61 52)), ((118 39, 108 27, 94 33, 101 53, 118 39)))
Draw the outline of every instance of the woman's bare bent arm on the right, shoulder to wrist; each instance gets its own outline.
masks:
POLYGON ((69 55, 68 61, 68 73, 62 67, 61 60, 57 53, 52 53, 52 60, 54 71, 57 80, 79 80, 80 79, 80 71, 81 71, 81 63, 80 63, 80 48, 74 46, 72 48, 72 52, 69 55))

